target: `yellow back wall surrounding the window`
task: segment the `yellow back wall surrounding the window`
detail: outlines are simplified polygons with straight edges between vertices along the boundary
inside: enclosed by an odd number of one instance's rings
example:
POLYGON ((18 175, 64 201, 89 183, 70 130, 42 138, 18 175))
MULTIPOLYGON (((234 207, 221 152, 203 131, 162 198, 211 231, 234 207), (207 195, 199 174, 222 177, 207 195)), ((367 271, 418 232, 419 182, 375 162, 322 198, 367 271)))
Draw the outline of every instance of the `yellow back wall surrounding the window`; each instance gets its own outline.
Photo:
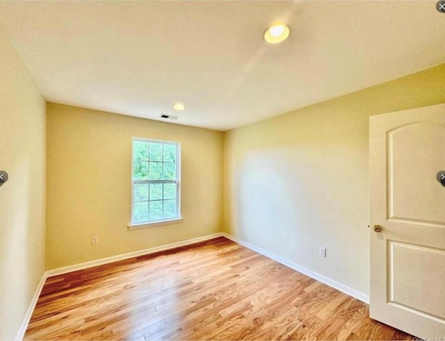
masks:
POLYGON ((222 173, 221 132, 48 103, 47 269, 219 232, 222 173), (127 228, 132 137, 181 142, 184 222, 127 228))

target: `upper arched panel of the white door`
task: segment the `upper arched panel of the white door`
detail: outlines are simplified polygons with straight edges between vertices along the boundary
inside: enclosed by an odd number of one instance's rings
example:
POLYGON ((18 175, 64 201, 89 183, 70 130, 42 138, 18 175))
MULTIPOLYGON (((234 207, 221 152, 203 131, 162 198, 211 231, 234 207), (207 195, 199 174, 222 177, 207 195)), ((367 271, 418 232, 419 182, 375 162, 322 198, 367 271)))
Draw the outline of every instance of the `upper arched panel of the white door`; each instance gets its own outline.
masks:
POLYGON ((395 128, 387 136, 388 216, 391 219, 445 224, 445 191, 436 174, 445 167, 444 124, 419 122, 395 128))

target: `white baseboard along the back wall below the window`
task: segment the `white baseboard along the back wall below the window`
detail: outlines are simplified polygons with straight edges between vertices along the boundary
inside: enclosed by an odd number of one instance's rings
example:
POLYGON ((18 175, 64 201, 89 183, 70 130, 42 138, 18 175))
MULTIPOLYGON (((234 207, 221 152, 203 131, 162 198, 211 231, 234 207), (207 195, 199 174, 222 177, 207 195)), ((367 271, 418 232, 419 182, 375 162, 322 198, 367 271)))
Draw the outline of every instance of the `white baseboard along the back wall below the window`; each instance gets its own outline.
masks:
POLYGON ((86 263, 70 265, 67 267, 58 267, 56 269, 48 270, 45 274, 47 275, 47 277, 57 276, 60 274, 67 274, 68 272, 73 272, 73 271, 77 271, 77 270, 81 270, 81 269, 87 269, 88 267, 96 267, 97 265, 113 263, 118 260, 124 260, 124 259, 128 259, 128 258, 144 256, 149 253, 165 251, 168 249, 175 249, 176 247, 184 247, 186 245, 195 244, 197 242, 204 242, 206 240, 221 237, 222 235, 223 235, 223 233, 214 233, 213 235, 204 235, 202 237, 184 240, 182 242, 175 242, 172 244, 166 244, 166 245, 162 245, 160 247, 151 247, 149 249, 143 249, 143 250, 139 250, 139 251, 123 253, 123 254, 120 254, 117 256, 111 256, 111 257, 101 258, 101 259, 97 259, 97 260, 90 260, 89 262, 86 262, 86 263))

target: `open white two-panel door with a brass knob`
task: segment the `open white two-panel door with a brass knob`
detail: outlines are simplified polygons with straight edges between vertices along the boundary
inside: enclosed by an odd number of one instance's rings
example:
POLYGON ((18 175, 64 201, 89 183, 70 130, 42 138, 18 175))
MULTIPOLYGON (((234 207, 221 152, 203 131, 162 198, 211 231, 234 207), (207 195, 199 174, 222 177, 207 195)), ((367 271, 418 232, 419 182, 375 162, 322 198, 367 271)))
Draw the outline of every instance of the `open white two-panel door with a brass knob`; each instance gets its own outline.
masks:
POLYGON ((445 105, 369 122, 370 315, 445 340, 445 105))

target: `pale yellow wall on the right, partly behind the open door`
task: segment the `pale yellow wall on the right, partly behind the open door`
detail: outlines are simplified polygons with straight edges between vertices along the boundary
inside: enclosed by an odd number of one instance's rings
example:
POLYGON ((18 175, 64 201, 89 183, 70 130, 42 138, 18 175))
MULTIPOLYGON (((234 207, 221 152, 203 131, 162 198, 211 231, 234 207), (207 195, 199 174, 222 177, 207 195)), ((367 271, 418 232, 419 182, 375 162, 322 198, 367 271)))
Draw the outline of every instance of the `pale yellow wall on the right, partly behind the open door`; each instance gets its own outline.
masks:
POLYGON ((224 230, 368 294, 369 116, 443 102, 445 65, 225 133, 224 230))

